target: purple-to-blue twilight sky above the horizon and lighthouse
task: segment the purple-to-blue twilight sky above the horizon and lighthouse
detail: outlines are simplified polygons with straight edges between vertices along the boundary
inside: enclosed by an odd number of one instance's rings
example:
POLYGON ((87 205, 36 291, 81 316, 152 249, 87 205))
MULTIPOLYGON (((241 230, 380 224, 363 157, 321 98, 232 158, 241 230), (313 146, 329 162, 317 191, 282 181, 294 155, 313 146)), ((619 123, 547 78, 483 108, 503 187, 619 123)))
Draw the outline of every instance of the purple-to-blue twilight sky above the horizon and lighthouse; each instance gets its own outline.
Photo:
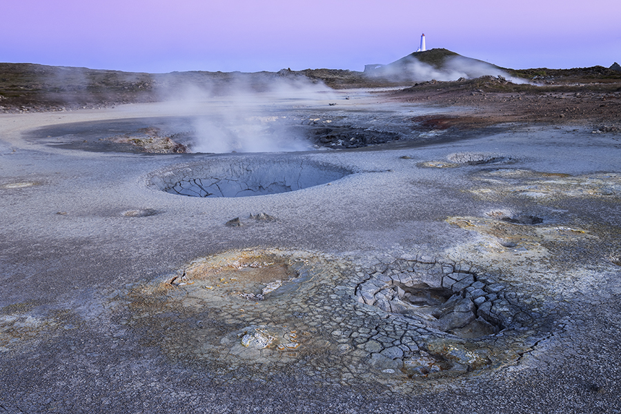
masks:
POLYGON ((621 0, 5 0, 0 61, 136 72, 363 70, 427 48, 506 68, 621 63, 621 0))

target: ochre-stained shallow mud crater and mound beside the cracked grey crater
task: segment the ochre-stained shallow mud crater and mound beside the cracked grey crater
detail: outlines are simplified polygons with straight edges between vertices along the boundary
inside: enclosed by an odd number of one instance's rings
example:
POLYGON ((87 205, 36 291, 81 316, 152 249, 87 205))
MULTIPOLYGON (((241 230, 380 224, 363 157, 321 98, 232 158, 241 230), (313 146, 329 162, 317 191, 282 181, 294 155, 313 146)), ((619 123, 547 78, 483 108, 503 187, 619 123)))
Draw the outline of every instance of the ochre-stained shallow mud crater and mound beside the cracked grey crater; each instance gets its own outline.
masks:
POLYGON ((197 259, 177 275, 133 288, 129 324, 149 326, 153 344, 171 357, 223 372, 252 366, 265 374, 297 360, 322 362, 337 344, 320 329, 325 315, 318 311, 328 304, 308 299, 320 297, 334 277, 328 263, 305 253, 248 250, 197 259), (164 324, 170 315, 180 319, 164 324))

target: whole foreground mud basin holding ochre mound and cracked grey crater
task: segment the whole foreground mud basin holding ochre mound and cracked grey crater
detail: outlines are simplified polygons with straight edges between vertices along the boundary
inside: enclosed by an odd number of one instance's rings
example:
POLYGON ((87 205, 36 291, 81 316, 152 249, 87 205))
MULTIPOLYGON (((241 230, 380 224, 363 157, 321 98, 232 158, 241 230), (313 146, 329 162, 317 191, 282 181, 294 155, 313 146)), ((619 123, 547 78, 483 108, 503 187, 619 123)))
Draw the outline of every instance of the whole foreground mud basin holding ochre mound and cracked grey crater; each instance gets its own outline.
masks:
POLYGON ((536 323, 491 277, 423 259, 378 266, 297 250, 230 251, 132 288, 125 323, 172 359, 229 380, 284 370, 342 384, 401 384, 408 392, 408 378, 440 380, 513 364, 535 341, 535 331, 522 326, 536 323), (408 299, 419 312, 400 315, 370 303, 384 300, 384 286, 407 290, 389 306, 408 299), (471 304, 473 315, 456 317, 463 304, 451 305, 455 297, 471 304), (450 308, 444 314, 451 315, 430 322, 420 317, 424 306, 450 308))

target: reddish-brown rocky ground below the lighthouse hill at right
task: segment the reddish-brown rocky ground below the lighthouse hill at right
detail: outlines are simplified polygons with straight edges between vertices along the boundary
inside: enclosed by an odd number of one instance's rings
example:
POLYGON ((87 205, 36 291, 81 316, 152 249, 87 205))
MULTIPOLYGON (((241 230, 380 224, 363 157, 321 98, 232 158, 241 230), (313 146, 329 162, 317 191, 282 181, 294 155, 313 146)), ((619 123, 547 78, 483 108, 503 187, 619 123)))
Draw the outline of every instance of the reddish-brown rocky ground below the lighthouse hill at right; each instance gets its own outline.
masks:
MULTIPOLYGON (((462 119, 423 119, 435 128, 476 128, 503 122, 591 126, 601 132, 621 128, 621 77, 604 79, 557 75, 542 84, 515 85, 482 77, 461 82, 424 82, 395 93, 406 102, 468 106, 475 114, 462 119)), ((537 79, 533 82, 538 82, 537 79)))

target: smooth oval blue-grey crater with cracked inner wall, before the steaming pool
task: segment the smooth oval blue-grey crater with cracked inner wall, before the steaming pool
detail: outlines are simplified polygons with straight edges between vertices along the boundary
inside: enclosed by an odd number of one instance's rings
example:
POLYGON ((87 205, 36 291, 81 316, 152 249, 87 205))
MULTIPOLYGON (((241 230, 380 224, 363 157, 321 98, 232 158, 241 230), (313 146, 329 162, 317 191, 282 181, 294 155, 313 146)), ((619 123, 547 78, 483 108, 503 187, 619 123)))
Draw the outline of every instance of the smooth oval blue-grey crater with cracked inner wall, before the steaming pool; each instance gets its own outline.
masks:
POLYGON ((335 181, 352 171, 304 159, 214 159, 154 175, 151 184, 188 197, 250 197, 288 193, 335 181))

